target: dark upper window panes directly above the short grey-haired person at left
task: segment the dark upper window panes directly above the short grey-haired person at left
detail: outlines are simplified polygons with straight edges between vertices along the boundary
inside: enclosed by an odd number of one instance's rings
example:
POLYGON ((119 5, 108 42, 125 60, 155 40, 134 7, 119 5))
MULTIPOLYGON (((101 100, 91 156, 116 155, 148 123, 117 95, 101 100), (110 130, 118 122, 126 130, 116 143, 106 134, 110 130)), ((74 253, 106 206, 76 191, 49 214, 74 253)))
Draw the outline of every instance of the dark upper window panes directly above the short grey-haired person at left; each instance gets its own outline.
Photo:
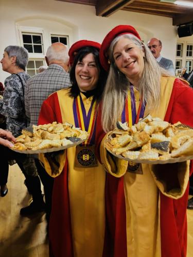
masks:
POLYGON ((22 39, 29 53, 44 53, 42 34, 23 32, 22 39))

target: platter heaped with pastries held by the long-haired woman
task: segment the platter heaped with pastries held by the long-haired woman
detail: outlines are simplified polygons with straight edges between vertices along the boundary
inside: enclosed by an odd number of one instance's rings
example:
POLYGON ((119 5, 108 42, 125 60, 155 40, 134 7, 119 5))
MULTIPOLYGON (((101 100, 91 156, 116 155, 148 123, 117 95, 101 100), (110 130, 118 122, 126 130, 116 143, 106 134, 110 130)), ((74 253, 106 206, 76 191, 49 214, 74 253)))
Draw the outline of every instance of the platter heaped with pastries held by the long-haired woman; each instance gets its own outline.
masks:
POLYGON ((118 121, 105 147, 120 159, 139 163, 181 162, 193 159, 193 128, 181 122, 170 124, 151 115, 131 127, 118 121))

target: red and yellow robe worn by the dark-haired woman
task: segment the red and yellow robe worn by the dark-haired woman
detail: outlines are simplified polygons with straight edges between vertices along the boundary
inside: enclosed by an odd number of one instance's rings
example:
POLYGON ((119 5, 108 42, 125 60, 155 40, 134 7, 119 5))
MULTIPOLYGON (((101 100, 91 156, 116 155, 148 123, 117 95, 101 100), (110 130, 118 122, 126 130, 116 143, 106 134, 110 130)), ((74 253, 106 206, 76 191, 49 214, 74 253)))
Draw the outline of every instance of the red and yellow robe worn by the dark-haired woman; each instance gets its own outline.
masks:
MULTIPOLYGON (((39 124, 65 121, 75 125, 74 98, 70 89, 62 89, 46 99, 41 108, 39 124)), ((93 97, 86 99, 89 111, 93 97)), ((102 257, 105 231, 104 187, 106 172, 99 163, 94 168, 75 168, 76 148, 58 156, 61 174, 55 177, 52 210, 49 221, 50 255, 55 257, 102 257)), ((51 169, 44 155, 45 169, 51 169)), ((50 174, 51 175, 51 174, 50 174)))

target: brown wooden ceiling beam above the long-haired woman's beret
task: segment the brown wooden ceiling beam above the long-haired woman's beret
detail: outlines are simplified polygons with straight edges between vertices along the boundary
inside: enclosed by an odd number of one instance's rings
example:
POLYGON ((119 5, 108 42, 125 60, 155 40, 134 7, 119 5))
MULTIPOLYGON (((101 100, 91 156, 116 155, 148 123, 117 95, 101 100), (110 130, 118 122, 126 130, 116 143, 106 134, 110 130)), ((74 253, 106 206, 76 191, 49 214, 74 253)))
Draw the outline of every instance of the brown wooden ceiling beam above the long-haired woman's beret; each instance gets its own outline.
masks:
POLYGON ((134 2, 134 0, 98 0, 95 6, 96 15, 108 17, 114 12, 128 6, 132 2, 134 2))

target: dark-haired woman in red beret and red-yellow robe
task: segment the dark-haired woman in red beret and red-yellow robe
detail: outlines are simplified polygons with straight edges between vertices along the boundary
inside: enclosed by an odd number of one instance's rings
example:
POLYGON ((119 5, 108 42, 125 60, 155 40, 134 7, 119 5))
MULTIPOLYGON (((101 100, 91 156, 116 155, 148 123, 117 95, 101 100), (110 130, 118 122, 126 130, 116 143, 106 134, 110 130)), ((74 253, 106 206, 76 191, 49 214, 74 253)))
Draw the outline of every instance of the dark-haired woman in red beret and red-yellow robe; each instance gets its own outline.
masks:
POLYGON ((93 41, 72 45, 72 87, 49 96, 39 116, 39 124, 67 121, 90 134, 82 145, 58 153, 55 173, 51 157, 39 156, 46 171, 56 177, 49 222, 50 255, 55 257, 102 257, 103 253, 106 175, 95 154, 95 130, 107 75, 99 63, 99 49, 100 44, 93 41))

